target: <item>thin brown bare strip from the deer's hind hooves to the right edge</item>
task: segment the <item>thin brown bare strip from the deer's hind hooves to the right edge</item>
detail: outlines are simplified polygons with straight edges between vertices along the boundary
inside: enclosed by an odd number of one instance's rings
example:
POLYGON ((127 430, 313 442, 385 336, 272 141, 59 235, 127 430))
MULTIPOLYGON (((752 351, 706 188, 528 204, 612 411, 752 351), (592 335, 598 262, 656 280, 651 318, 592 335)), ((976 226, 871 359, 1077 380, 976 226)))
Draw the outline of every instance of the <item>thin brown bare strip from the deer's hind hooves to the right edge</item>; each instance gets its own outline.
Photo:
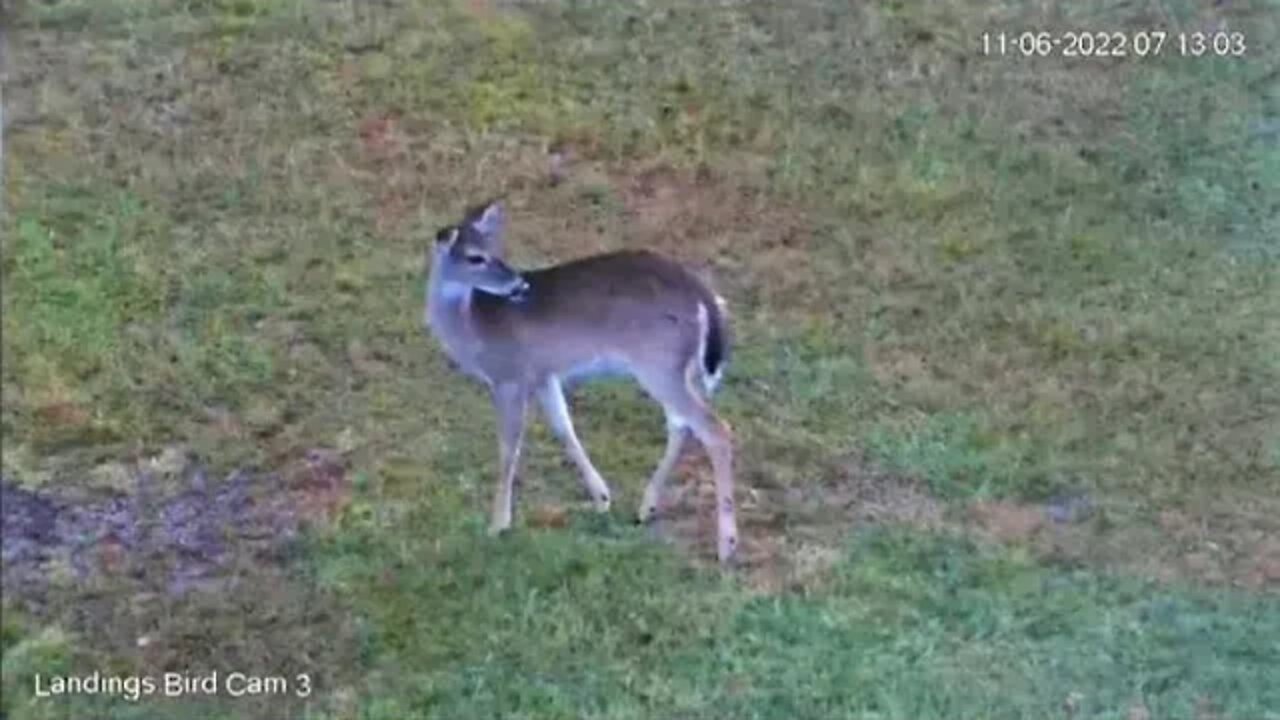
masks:
MULTIPOLYGON (((874 525, 963 533, 1027 547, 1044 562, 1160 582, 1280 592, 1280 541, 1275 539, 1280 536, 1271 530, 1274 523, 1239 527, 1238 512, 1164 511, 1155 527, 1137 520, 1117 524, 1119 510, 1106 503, 1096 507, 1087 495, 1044 502, 974 501, 948 509, 919 480, 881 470, 860 456, 829 464, 808 486, 759 488, 742 479, 739 566, 748 585, 763 593, 822 587, 845 538, 874 525)), ((653 533, 695 562, 710 565, 713 506, 709 468, 696 447, 686 448, 653 533)))

